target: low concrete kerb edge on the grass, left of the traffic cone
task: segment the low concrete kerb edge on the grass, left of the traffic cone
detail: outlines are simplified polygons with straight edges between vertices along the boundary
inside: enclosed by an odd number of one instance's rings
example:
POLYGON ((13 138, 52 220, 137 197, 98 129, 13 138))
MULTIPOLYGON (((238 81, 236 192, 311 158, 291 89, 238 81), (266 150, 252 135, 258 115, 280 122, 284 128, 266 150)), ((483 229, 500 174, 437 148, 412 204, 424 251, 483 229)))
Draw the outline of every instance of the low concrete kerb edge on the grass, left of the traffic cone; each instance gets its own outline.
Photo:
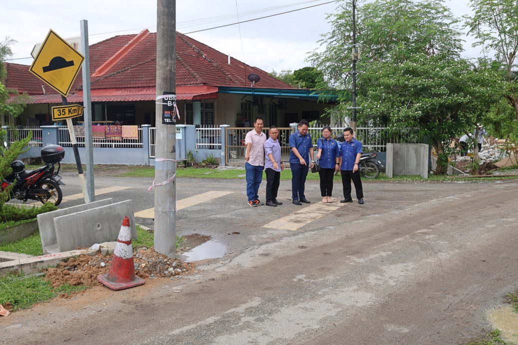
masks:
POLYGON ((0 262, 0 276, 8 273, 31 274, 38 273, 42 268, 55 266, 65 258, 76 255, 95 255, 97 251, 90 249, 70 250, 62 253, 45 254, 39 257, 18 258, 6 262, 0 262))

